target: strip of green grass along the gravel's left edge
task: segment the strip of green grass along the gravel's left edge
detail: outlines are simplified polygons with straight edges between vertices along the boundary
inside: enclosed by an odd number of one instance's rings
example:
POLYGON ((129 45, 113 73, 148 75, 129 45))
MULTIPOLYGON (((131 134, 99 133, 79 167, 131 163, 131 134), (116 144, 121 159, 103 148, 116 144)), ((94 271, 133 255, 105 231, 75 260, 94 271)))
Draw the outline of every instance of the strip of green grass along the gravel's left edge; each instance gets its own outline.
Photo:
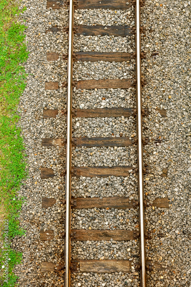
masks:
MULTIPOLYGON (((21 253, 10 248, 10 241, 14 236, 24 234, 18 220, 23 199, 17 196, 21 181, 27 176, 25 146, 17 127, 17 106, 26 79, 22 64, 28 57, 23 43, 25 26, 17 23, 17 15, 21 12, 18 1, 0 0, 0 216, 1 219, 9 220, 9 231, 5 234, 7 237, 3 235, 4 229, 1 226, 1 240, 5 249, 9 249, 10 258, 8 281, 4 282, 2 272, 0 274, 3 287, 15 286, 17 276, 12 270, 15 264, 21 262, 21 253)), ((5 262, 4 253, 1 250, 1 265, 5 262)))

